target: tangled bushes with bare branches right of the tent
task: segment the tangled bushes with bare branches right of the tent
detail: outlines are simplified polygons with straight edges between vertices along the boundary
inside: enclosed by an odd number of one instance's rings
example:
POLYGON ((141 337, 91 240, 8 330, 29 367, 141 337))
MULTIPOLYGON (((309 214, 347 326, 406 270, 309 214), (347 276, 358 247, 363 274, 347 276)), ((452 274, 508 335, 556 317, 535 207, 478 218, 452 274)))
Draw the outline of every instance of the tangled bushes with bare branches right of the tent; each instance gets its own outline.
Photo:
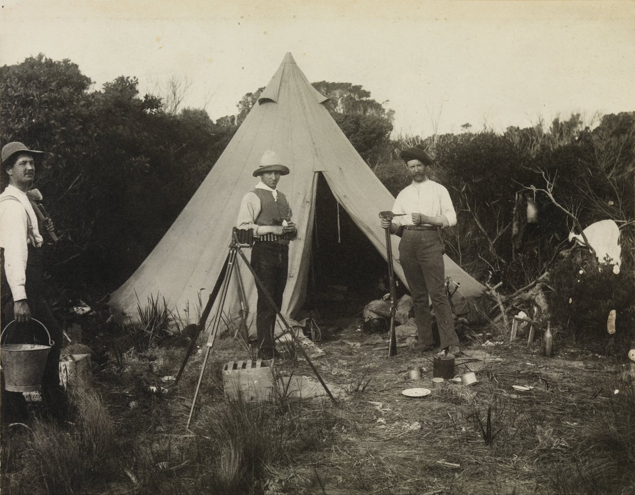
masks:
POLYGON ((573 114, 547 130, 422 141, 436 158, 433 178, 448 187, 458 213, 446 236, 450 256, 468 272, 481 281, 493 275, 508 293, 551 272, 554 322, 578 335, 605 334, 608 311, 616 309, 620 329, 633 326, 635 112, 604 116, 592 130, 573 114), (526 216, 530 203, 535 223, 526 216), (598 270, 593 256, 568 241, 569 232, 606 219, 620 227, 619 276, 612 267, 598 270))

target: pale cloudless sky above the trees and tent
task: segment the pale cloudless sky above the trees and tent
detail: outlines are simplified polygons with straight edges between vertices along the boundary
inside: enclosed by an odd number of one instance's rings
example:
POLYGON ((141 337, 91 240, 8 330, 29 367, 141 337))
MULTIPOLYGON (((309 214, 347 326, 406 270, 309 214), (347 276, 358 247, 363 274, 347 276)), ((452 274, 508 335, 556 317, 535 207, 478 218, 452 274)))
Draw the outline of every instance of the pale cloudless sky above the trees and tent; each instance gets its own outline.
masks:
POLYGON ((94 88, 192 81, 185 106, 236 114, 290 51, 309 81, 361 84, 396 131, 497 131, 635 110, 635 2, 6 0, 0 65, 69 58, 94 88))

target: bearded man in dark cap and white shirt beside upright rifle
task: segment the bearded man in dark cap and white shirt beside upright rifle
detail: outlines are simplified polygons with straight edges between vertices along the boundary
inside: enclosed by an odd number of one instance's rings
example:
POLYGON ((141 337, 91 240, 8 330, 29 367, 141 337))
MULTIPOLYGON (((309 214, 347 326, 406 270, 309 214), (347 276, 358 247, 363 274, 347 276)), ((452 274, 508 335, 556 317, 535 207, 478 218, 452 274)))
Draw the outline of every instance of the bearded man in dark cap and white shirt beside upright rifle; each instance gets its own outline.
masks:
POLYGON ((415 320, 417 321, 418 347, 434 348, 429 299, 439 327, 441 348, 460 354, 457 333, 450 301, 445 291, 445 267, 441 229, 457 224, 457 214, 452 206, 448 190, 428 178, 433 162, 422 145, 403 150, 401 159, 406 162, 406 172, 412 183, 397 196, 391 220, 382 218, 382 227, 396 234, 403 227, 399 243, 399 260, 410 287, 415 320))

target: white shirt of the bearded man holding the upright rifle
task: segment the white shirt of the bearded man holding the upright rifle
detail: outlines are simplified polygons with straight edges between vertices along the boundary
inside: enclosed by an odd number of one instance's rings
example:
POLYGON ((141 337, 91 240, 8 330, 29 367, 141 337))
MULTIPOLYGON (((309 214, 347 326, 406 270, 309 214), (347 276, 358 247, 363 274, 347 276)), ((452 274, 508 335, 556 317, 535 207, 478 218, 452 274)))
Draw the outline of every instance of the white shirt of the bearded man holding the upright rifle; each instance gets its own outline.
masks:
POLYGON ((392 219, 395 225, 413 225, 412 213, 423 213, 426 216, 442 216, 443 227, 457 225, 457 213, 454 211, 448 190, 438 182, 425 180, 412 182, 397 195, 392 213, 399 215, 392 219), (447 223, 446 223, 447 221, 447 223))

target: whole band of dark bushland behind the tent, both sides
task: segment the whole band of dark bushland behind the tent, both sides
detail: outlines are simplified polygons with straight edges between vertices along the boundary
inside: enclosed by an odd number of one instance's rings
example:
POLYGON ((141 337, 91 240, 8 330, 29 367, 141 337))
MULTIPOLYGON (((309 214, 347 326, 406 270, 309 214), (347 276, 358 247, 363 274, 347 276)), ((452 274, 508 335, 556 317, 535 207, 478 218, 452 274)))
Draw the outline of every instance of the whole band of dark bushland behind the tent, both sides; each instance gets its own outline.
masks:
MULTIPOLYGON (((330 98, 326 109, 392 194, 409 182, 399 150, 428 146, 437 164, 432 178, 448 188, 458 214, 446 234, 448 254, 477 279, 491 274, 512 292, 554 270, 569 277, 550 296, 555 308, 565 308, 565 287, 577 283, 580 261, 557 265, 577 229, 573 215, 582 227, 615 220, 620 280, 635 285, 635 112, 604 116, 593 129, 573 114, 502 134, 474 133, 464 124, 458 135, 391 140, 394 115, 386 102, 351 83, 314 87, 330 98), (537 223, 526 218, 530 203, 537 223)), ((50 256, 53 279, 83 294, 119 286, 182 211, 263 90, 244 95, 236 116, 213 122, 203 109, 178 111, 157 95, 141 96, 135 77, 93 89, 76 64, 44 55, 0 67, 0 144, 21 141, 47 153, 36 187, 62 233, 50 256)), ((601 311, 613 305, 631 315, 620 328, 633 327, 635 309, 624 290, 608 294, 610 280, 606 270, 589 274, 584 287, 604 294, 601 311)), ((603 317, 575 294, 581 309, 561 315, 601 326, 603 317)))

